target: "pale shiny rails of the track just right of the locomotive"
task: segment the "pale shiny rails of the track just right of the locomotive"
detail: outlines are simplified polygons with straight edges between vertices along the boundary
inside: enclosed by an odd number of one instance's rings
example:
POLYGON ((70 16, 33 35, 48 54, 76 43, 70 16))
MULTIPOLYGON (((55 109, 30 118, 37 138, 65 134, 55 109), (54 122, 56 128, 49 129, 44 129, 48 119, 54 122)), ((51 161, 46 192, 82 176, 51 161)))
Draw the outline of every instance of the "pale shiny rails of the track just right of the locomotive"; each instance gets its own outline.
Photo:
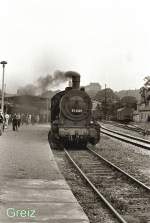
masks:
POLYGON ((135 146, 150 150, 150 141, 149 140, 142 139, 140 137, 135 137, 135 136, 132 136, 129 134, 121 133, 116 130, 106 128, 104 126, 101 126, 101 133, 108 135, 110 137, 119 139, 121 141, 133 144, 135 146))

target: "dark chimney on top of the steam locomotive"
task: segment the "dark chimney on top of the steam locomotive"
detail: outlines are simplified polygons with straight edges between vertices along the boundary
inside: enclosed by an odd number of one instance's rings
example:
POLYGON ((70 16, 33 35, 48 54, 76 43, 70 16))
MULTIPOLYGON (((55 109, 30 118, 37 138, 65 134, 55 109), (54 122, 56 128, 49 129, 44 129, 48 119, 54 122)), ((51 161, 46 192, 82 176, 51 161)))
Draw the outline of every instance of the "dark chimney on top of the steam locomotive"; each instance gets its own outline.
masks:
POLYGON ((79 89, 80 88, 80 74, 75 71, 67 71, 65 76, 68 78, 72 78, 72 88, 79 89))

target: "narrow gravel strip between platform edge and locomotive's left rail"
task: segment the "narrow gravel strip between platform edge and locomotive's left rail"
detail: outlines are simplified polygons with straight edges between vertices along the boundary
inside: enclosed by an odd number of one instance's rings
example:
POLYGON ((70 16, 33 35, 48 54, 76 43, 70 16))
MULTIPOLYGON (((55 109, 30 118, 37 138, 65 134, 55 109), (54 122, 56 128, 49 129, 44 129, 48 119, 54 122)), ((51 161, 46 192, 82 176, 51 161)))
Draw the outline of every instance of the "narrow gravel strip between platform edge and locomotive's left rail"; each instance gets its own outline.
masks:
POLYGON ((107 207, 81 178, 63 151, 53 151, 56 162, 91 223, 118 223, 107 207))

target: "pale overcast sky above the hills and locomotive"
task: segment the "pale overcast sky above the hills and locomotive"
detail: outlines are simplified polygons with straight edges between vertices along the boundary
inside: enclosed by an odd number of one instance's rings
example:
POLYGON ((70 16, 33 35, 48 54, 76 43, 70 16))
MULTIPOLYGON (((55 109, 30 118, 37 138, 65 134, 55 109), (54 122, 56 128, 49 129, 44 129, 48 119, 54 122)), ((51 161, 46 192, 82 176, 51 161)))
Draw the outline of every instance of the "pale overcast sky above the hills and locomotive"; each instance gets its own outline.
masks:
POLYGON ((55 70, 114 90, 150 74, 149 0, 0 0, 0 30, 9 92, 55 70))

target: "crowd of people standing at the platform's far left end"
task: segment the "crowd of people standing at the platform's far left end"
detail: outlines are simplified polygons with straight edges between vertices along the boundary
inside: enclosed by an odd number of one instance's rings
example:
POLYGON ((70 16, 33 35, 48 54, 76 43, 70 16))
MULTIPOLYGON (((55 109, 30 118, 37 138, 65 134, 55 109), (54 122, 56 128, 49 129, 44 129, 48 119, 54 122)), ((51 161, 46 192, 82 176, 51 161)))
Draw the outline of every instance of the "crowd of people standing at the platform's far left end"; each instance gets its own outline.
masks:
POLYGON ((2 111, 0 110, 0 135, 2 132, 8 128, 9 124, 12 124, 13 131, 18 131, 18 128, 23 125, 28 124, 35 124, 39 123, 40 116, 34 114, 24 114, 24 113, 13 113, 3 115, 2 111))

